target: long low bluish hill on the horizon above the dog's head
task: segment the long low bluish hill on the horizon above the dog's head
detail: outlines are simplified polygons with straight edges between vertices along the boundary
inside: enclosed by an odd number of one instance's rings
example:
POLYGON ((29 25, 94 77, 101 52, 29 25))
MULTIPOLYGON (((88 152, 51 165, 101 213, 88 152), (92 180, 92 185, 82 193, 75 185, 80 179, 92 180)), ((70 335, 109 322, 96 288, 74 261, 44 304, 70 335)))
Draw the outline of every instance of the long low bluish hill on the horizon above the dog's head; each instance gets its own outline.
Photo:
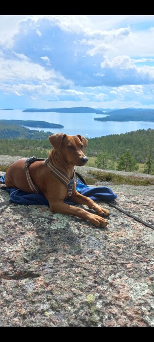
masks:
POLYGON ((56 113, 102 113, 102 110, 90 107, 71 107, 71 108, 47 108, 47 109, 24 109, 23 112, 56 112, 56 113))

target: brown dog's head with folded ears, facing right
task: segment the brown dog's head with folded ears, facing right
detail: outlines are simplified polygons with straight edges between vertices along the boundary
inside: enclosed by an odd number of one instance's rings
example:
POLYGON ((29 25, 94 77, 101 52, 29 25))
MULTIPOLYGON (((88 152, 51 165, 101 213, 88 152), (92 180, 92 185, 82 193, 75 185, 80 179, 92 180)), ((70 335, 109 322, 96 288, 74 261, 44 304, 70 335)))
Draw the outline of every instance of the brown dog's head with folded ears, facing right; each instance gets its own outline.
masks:
POLYGON ((49 141, 58 154, 66 163, 82 166, 87 163, 88 158, 84 150, 88 145, 88 140, 82 135, 66 135, 64 133, 49 136, 49 141))

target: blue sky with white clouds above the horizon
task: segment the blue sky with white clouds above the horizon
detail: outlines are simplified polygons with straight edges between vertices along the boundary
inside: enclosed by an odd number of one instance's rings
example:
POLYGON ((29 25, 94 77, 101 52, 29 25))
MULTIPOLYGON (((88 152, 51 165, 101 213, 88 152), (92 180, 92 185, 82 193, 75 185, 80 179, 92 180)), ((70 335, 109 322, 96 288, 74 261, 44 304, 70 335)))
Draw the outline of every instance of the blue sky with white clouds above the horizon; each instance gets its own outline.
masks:
POLYGON ((1 15, 0 108, 154 108, 154 15, 1 15))

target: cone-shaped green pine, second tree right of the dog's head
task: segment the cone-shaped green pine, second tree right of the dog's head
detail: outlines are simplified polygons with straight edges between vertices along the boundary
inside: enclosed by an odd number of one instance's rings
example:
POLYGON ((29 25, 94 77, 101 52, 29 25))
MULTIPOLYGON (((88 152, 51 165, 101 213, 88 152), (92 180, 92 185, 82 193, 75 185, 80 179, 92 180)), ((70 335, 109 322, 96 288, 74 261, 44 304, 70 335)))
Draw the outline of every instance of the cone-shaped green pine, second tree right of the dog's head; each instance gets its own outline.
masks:
POLYGON ((129 149, 120 155, 117 170, 123 170, 125 172, 138 170, 138 165, 136 165, 136 161, 133 159, 129 149))

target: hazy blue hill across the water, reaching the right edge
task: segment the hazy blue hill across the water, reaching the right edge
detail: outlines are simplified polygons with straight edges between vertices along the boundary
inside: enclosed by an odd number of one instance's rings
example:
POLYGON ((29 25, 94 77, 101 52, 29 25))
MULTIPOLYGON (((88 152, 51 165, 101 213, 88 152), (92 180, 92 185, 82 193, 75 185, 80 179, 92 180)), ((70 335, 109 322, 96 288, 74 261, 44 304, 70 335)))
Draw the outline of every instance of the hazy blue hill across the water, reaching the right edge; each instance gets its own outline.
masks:
POLYGON ((94 118, 96 121, 149 121, 154 122, 154 109, 125 108, 110 112, 105 118, 94 118))

